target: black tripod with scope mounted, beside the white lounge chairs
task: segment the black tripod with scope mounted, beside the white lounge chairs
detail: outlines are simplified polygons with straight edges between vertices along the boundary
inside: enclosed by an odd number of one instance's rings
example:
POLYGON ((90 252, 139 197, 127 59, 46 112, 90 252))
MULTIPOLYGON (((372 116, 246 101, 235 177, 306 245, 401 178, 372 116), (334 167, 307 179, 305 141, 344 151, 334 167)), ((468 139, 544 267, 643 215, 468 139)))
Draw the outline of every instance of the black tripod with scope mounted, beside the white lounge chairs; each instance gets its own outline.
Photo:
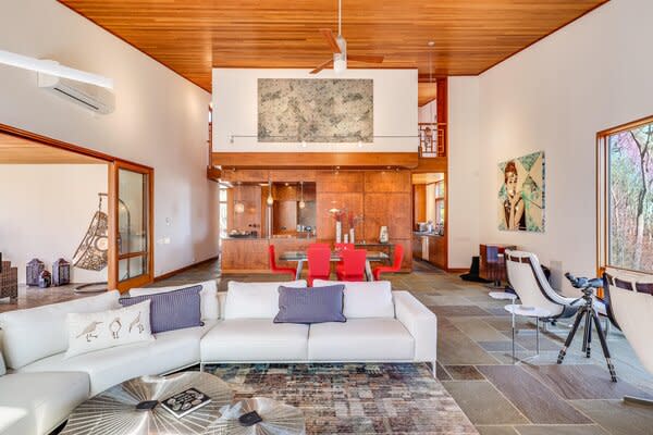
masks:
POLYGON ((582 291, 582 297, 577 299, 583 299, 584 304, 578 309, 578 313, 576 314, 576 320, 574 321, 574 326, 565 340, 565 346, 560 349, 558 353, 557 363, 562 364, 565 356, 567 355, 567 349, 571 345, 574 340, 574 336, 580 326, 580 322, 582 322, 584 318, 584 331, 582 338, 582 351, 586 352, 586 357, 590 358, 592 355, 591 344, 592 344, 592 322, 596 327, 596 333, 599 334, 599 340, 601 341, 601 347, 603 348, 603 356, 605 357, 605 361, 607 362, 607 370, 609 371, 609 377, 612 382, 617 382, 617 373, 615 372, 615 366, 612 362, 612 358, 609 356, 609 349, 607 348, 607 340, 605 339, 605 334, 603 333, 603 328, 601 327, 601 321, 599 320, 599 313, 594 309, 594 290, 596 287, 603 286, 603 282, 601 278, 577 278, 574 275, 566 273, 565 276, 567 279, 571 282, 571 285, 575 288, 579 288, 582 291))

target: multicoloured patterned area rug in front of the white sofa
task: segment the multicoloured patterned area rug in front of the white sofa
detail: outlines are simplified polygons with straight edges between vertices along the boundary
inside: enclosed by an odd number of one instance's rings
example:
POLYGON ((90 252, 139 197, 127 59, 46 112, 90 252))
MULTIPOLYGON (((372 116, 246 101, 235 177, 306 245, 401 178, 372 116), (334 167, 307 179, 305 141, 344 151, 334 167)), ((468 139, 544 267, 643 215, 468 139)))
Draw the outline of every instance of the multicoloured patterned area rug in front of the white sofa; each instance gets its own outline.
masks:
POLYGON ((300 408, 307 434, 478 432, 426 364, 206 365, 236 399, 269 397, 300 408))

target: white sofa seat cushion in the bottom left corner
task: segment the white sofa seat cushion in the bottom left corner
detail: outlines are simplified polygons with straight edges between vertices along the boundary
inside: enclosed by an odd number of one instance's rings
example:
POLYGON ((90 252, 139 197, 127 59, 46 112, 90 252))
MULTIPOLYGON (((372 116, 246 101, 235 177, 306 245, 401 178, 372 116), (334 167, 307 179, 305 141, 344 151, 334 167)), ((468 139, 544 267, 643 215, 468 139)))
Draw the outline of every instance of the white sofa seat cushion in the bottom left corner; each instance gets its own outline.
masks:
POLYGON ((0 377, 0 433, 45 435, 88 398, 83 372, 14 373, 0 377))

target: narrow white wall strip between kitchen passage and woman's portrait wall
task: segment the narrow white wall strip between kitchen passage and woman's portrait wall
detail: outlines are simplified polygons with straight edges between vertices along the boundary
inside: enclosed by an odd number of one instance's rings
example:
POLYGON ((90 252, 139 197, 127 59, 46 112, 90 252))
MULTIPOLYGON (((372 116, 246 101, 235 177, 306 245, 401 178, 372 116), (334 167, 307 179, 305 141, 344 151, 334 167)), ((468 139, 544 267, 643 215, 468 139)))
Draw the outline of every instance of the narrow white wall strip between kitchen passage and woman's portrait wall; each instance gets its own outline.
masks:
MULTIPOLYGON (((479 78, 448 78, 448 268, 469 268, 479 253, 479 78)), ((494 214, 490 214, 494 216, 494 214)))

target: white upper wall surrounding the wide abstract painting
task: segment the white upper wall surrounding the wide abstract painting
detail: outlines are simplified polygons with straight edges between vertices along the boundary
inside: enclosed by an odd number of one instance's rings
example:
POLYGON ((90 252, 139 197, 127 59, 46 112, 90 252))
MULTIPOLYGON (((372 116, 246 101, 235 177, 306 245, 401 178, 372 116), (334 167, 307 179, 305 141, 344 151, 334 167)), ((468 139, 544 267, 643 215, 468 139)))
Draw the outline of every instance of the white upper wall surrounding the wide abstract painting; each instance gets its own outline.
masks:
POLYGON ((324 70, 213 69, 213 149, 242 152, 414 152, 417 139, 417 70, 347 70, 336 76, 324 70), (372 144, 258 144, 259 78, 371 78, 374 80, 374 136, 372 144))

